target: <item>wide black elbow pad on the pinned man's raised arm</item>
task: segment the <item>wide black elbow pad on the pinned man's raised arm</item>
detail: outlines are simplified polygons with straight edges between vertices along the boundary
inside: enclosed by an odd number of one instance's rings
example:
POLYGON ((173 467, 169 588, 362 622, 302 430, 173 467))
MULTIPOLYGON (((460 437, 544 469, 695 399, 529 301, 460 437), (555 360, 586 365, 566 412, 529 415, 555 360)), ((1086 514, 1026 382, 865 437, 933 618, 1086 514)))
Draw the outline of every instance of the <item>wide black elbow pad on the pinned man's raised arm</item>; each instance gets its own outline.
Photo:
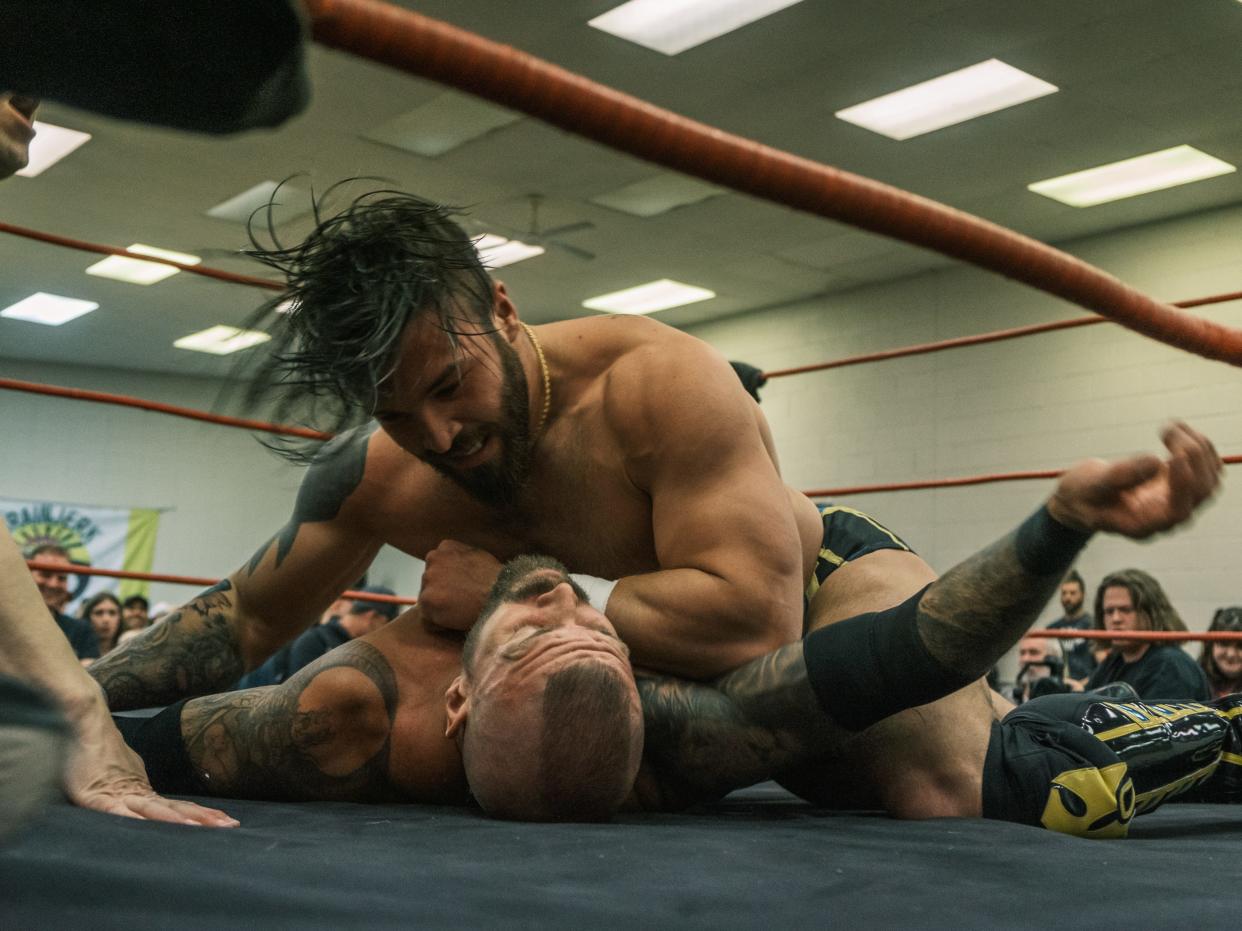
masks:
POLYGON ((888 611, 822 627, 802 641, 811 688, 842 727, 864 730, 974 680, 946 669, 928 653, 918 629, 918 606, 925 591, 888 611))

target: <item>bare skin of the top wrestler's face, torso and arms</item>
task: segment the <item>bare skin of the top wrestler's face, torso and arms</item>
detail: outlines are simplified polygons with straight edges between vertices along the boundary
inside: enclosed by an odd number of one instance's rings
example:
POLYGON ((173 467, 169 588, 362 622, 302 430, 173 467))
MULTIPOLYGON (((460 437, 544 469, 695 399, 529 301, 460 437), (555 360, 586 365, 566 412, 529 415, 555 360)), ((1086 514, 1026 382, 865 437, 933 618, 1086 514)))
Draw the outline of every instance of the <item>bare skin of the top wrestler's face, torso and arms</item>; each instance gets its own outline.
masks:
MULTIPOLYGON (((518 354, 532 430, 543 377, 503 286, 498 338, 518 354)), ((535 328, 550 371, 548 426, 529 483, 508 510, 469 497, 420 454, 448 456, 467 438, 462 468, 496 457, 501 369, 488 336, 455 349, 427 320, 381 394, 379 426, 339 437, 308 470, 289 523, 230 578, 212 611, 176 612, 159 649, 143 638, 92 674, 114 708, 168 703, 225 688, 292 636, 361 575, 385 542, 430 566, 457 541, 489 565, 473 593, 452 590, 473 617, 499 569, 523 552, 571 571, 621 580, 609 617, 635 663, 712 677, 802 632, 802 588, 822 529, 815 506, 786 487, 758 405, 704 343, 646 319, 591 318, 535 328), (455 446, 457 443, 457 446, 455 446), (437 550, 437 547, 440 547, 437 550), (222 622, 225 627, 221 627, 222 622), (214 674, 173 681, 164 657, 194 655, 195 641, 231 639, 214 674)), ((452 459, 451 459, 452 463, 452 459)), ((438 570, 437 570, 438 571, 438 570)), ((427 587, 427 619, 445 600, 427 587)))

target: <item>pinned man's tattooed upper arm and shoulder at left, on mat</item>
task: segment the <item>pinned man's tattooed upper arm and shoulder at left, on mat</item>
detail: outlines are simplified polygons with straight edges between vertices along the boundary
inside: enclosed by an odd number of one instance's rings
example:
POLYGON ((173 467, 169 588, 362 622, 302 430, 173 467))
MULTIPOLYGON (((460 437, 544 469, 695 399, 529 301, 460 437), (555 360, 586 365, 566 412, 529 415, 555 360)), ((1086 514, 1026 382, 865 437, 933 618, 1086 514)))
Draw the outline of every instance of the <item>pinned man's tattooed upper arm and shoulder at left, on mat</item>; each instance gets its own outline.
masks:
POLYGON ((383 654, 354 641, 282 685, 188 703, 181 736, 211 794, 396 801, 389 780, 396 695, 396 677, 383 654), (364 689, 368 698, 359 699, 356 688, 334 686, 325 674, 339 669, 361 673, 374 694, 364 689))

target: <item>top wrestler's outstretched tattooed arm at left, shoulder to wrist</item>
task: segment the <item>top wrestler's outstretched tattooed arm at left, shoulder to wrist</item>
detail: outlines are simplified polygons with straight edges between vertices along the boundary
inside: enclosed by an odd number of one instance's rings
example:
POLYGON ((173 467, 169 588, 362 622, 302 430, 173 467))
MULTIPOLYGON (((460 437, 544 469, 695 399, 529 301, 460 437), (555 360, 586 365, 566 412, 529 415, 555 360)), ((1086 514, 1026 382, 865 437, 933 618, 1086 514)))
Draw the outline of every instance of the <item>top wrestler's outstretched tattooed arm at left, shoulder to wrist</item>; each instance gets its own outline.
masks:
POLYGON ((325 447, 289 523, 247 565, 91 667, 113 710, 229 688, 365 571, 380 546, 356 494, 373 432, 374 425, 325 447))

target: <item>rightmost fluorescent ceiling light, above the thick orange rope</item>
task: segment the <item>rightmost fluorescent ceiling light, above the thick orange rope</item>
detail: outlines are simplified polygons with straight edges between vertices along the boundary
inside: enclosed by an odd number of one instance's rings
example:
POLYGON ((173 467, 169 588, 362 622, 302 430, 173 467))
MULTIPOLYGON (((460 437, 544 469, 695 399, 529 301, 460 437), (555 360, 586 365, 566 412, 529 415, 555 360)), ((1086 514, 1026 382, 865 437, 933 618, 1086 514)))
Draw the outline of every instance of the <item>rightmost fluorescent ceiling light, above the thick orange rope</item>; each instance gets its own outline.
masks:
POLYGON ((1072 175, 1049 178, 1027 185, 1028 191, 1052 197, 1071 207, 1092 207, 1123 197, 1150 194, 1180 184, 1202 181, 1227 175, 1237 169, 1191 145, 1153 151, 1123 161, 1114 161, 1072 175))

